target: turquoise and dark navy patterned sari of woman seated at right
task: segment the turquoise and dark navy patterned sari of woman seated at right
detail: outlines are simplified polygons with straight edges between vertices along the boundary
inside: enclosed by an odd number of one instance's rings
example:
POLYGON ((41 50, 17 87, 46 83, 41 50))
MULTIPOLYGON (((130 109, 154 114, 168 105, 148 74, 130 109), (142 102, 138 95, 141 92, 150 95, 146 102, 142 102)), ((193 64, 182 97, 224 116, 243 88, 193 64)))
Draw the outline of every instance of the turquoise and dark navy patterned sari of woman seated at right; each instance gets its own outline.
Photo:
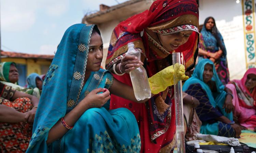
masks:
POLYGON ((193 72, 191 78, 189 78, 183 85, 183 91, 188 95, 196 97, 200 104, 196 108, 197 115, 202 121, 200 133, 213 134, 225 137, 234 137, 235 131, 231 125, 221 121, 217 121, 216 118, 225 116, 229 120, 233 120, 231 113, 226 113, 223 108, 226 91, 225 86, 219 80, 215 66, 209 59, 201 60, 193 72), (213 65, 213 77, 212 80, 216 84, 216 91, 212 91, 210 87, 203 82, 203 71, 205 64, 213 65))

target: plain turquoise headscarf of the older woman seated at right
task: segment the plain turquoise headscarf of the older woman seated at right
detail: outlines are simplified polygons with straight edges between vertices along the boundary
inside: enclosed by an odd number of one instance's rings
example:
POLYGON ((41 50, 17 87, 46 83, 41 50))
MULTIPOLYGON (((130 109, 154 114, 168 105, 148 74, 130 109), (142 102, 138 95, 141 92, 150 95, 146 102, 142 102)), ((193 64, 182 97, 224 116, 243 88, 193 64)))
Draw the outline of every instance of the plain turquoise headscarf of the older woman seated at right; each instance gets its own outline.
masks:
POLYGON ((206 64, 211 64, 213 66, 213 77, 211 80, 215 82, 217 92, 221 93, 224 91, 225 86, 222 84, 221 80, 219 80, 219 77, 217 75, 217 72, 215 70, 215 66, 214 66, 213 62, 207 58, 198 62, 198 64, 196 65, 196 68, 192 74, 192 77, 189 78, 184 83, 182 89, 183 89, 183 91, 186 91, 190 85, 200 84, 202 86, 203 90, 206 92, 212 106, 216 107, 217 103, 214 100, 214 96, 213 96, 213 93, 212 93, 210 87, 206 83, 203 82, 203 71, 204 71, 204 66, 206 64))

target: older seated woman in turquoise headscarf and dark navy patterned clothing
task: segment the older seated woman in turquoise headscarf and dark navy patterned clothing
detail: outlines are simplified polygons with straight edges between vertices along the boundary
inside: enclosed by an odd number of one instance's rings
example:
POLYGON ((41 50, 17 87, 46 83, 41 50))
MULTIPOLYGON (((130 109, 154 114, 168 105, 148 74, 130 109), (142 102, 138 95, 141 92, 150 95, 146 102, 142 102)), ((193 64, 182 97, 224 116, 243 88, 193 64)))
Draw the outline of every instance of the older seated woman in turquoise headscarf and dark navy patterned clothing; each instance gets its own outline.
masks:
POLYGON ((239 137, 241 129, 234 123, 231 112, 232 92, 219 80, 211 60, 199 61, 192 77, 184 83, 183 91, 200 102, 196 108, 202 121, 200 133, 239 137))

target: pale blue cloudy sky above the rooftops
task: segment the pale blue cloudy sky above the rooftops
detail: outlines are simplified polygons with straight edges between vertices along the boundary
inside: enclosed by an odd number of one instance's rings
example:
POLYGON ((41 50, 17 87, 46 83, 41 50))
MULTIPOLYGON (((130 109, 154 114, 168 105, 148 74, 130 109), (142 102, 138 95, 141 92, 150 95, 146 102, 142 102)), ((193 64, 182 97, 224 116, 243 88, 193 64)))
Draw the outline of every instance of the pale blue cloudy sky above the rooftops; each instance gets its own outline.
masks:
POLYGON ((0 0, 3 51, 54 54, 68 27, 99 5, 127 0, 0 0))

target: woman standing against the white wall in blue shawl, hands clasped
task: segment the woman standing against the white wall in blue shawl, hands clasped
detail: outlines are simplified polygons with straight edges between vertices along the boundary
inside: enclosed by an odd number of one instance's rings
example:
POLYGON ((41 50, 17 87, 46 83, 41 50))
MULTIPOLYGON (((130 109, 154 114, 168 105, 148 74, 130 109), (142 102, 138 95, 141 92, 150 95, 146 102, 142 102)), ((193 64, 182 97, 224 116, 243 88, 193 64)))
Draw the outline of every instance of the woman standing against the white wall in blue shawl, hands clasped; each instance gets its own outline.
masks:
POLYGON ((199 61, 203 58, 209 58, 215 65, 219 79, 226 85, 229 82, 227 50, 213 17, 205 19, 200 32, 198 47, 199 61))

